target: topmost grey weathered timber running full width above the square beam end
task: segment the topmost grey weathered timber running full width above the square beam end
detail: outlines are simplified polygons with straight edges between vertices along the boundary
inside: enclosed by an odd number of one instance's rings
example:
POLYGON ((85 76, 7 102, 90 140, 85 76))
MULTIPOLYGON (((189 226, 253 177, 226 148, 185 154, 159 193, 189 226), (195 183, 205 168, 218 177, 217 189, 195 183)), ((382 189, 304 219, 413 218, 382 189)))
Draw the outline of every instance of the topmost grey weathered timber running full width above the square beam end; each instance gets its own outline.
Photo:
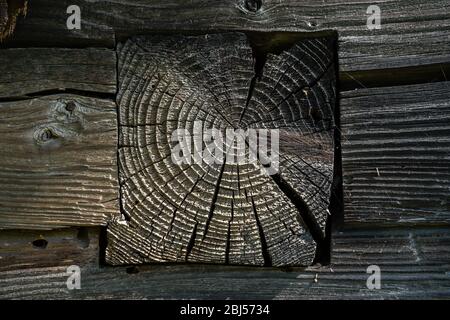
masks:
POLYGON ((341 71, 444 63, 450 60, 448 0, 88 1, 34 0, 12 46, 109 46, 115 39, 156 31, 337 31, 341 71), (82 29, 67 30, 66 8, 79 5, 82 29), (381 9, 381 30, 367 28, 370 5, 381 9))

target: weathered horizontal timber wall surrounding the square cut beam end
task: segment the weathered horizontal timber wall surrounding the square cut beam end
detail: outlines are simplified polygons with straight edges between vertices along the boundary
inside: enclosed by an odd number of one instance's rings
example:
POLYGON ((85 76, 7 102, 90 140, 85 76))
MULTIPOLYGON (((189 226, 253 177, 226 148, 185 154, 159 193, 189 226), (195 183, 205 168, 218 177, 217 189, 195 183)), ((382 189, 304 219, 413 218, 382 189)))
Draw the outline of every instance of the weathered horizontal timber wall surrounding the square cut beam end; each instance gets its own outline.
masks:
POLYGON ((30 1, 0 49, 0 297, 450 297, 450 4, 377 1, 382 28, 368 30, 371 4, 30 1), (66 28, 72 4, 81 30, 66 28), (117 45, 223 31, 338 39, 344 210, 330 264, 104 266, 104 227, 120 215, 117 45), (80 290, 65 285, 74 264, 80 290), (366 287, 373 264, 380 290, 366 287))

